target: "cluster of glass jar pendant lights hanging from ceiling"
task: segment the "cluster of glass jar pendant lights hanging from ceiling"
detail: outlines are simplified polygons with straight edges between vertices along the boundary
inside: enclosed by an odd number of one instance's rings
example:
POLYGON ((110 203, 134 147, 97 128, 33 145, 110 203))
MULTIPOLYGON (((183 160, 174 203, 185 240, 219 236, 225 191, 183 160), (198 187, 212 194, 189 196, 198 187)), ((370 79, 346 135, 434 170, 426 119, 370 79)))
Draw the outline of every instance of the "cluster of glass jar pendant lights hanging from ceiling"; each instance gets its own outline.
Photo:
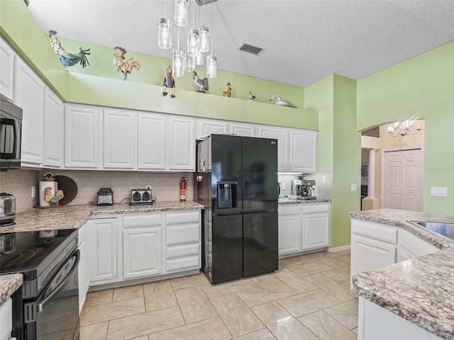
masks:
MULTIPOLYGON (((217 0, 206 0, 211 2, 211 27, 213 27, 213 2, 217 0)), ((203 53, 210 50, 209 28, 202 24, 199 29, 194 28, 195 5, 204 5, 205 0, 175 0, 173 22, 178 26, 177 49, 172 50, 172 71, 174 77, 183 77, 184 72, 192 72, 195 65, 204 64, 203 53), (203 1, 203 2, 202 2, 203 1), (189 4, 191 3, 191 4, 189 4), (189 5, 191 5, 189 8, 189 5), (187 30, 187 47, 179 50, 179 28, 187 26, 189 9, 192 11, 192 28, 187 30)), ((200 21, 200 11, 199 11, 200 21)), ((157 21, 157 45, 164 50, 172 47, 172 22, 166 18, 164 0, 164 18, 157 21)), ((218 71, 217 57, 213 54, 213 39, 211 39, 211 55, 206 57, 206 77, 216 78, 218 71)))

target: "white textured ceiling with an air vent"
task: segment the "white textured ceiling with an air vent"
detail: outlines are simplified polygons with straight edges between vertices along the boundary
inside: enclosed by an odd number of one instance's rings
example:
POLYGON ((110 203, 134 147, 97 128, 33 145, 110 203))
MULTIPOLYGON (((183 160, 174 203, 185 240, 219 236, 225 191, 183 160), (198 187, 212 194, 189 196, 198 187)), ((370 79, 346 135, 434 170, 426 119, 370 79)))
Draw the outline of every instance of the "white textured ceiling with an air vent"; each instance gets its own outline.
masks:
MULTIPOLYGON (((165 8, 172 16, 171 0, 29 1, 43 31, 171 57, 157 47, 157 19, 165 8)), ((194 6, 195 27, 200 10, 210 28, 218 69, 295 86, 333 73, 361 79, 454 40, 452 0, 218 0, 194 6), (243 43, 265 51, 242 52, 243 43)), ((189 28, 192 19, 180 28, 180 47, 189 28)), ((172 30, 176 47, 177 26, 172 30)))

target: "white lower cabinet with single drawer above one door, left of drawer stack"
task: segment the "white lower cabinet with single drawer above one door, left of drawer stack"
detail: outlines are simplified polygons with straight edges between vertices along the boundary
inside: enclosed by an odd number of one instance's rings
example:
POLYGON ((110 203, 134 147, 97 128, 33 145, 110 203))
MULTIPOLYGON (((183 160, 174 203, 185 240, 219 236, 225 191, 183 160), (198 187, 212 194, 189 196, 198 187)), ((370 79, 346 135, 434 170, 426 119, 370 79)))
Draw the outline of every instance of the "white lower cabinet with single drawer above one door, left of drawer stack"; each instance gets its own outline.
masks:
POLYGON ((123 278, 162 273, 162 214, 123 217, 123 278))

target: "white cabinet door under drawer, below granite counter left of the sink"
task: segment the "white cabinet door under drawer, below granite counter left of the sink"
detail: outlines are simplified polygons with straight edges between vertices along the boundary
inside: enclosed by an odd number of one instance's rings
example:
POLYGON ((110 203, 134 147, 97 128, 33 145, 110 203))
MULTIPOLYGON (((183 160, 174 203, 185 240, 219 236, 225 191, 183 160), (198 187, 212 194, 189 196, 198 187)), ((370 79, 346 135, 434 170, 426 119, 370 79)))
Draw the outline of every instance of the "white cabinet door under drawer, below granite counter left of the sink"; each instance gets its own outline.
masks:
POLYGON ((356 235, 352 235, 351 241, 350 277, 396 263, 397 247, 394 244, 356 235))

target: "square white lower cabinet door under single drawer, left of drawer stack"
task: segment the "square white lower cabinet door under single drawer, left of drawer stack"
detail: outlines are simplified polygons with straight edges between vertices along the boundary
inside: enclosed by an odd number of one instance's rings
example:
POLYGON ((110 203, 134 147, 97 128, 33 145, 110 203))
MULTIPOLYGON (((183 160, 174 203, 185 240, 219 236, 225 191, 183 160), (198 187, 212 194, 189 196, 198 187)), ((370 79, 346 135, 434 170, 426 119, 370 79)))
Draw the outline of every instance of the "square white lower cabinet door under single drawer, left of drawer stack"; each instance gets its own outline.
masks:
POLYGON ((123 278, 161 273, 162 229, 123 230, 123 278))

